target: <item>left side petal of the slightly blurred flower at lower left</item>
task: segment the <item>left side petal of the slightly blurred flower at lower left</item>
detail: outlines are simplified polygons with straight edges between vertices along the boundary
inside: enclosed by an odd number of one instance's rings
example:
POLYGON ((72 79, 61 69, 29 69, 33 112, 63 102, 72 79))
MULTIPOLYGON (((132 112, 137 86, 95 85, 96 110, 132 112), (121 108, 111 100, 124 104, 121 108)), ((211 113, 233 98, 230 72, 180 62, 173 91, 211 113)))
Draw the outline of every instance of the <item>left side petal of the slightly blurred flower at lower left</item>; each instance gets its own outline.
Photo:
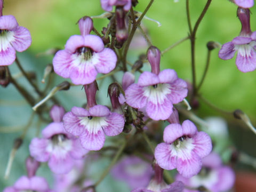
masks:
POLYGON ((49 153, 46 151, 46 147, 49 145, 49 140, 34 138, 30 145, 30 155, 39 162, 46 162, 49 159, 49 153))

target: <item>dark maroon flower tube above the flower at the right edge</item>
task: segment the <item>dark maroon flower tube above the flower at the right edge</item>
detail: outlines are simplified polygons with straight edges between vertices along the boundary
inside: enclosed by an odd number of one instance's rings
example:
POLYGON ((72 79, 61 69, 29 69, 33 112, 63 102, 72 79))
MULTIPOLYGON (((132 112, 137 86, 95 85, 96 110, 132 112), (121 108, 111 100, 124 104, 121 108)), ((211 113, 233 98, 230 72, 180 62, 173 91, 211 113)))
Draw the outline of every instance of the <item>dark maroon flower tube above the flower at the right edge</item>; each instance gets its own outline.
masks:
POLYGON ((238 7, 237 17, 241 21, 242 29, 240 35, 251 35, 252 30, 250 26, 250 10, 238 7))

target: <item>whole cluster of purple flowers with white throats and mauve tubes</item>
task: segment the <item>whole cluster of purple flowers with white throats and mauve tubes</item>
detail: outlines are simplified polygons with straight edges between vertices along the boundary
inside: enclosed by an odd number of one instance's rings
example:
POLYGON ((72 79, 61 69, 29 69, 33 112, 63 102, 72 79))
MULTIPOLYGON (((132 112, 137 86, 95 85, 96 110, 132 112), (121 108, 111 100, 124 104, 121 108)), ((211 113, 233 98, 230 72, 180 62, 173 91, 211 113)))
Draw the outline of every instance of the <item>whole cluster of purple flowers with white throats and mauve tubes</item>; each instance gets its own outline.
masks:
MULTIPOLYGON (((222 46, 219 57, 230 59, 235 51, 238 51, 237 67, 247 72, 256 68, 254 61, 256 59, 254 58, 256 34, 251 32, 250 11, 246 7, 253 4, 253 1, 247 1, 247 3, 235 1, 235 3, 241 6, 237 13, 242 23, 241 34, 232 42, 222 46)), ((125 17, 121 17, 120 14, 125 14, 132 6, 131 0, 101 0, 101 4, 106 11, 111 11, 113 6, 117 7, 117 21, 124 19, 125 17)), ((116 25, 116 38, 117 41, 123 43, 127 34, 125 21, 121 23, 116 25)), ((127 106, 142 111, 145 117, 154 121, 167 120, 170 123, 163 132, 164 142, 159 143, 155 148, 154 173, 150 171, 148 165, 145 165, 145 162, 141 162, 138 158, 133 157, 125 163, 144 164, 144 169, 139 175, 132 175, 132 179, 128 179, 130 185, 135 188, 133 192, 178 192, 187 190, 184 189, 185 185, 194 187, 194 189, 204 185, 211 191, 230 189, 234 183, 234 173, 228 167, 221 165, 217 154, 210 154, 212 142, 209 135, 202 131, 198 132, 197 127, 189 120, 180 124, 178 112, 173 105, 187 97, 187 83, 178 78, 173 69, 160 70, 161 52, 157 47, 149 47, 147 59, 151 65, 151 72, 143 72, 138 83, 134 83, 135 78, 132 73, 124 74, 121 88, 124 90, 124 95, 119 95, 115 84, 110 87, 112 109, 109 110, 106 106, 97 105, 95 96, 98 85, 95 79, 98 73, 108 74, 116 68, 117 55, 113 49, 105 47, 105 42, 101 37, 90 34, 93 29, 90 17, 81 18, 78 25, 81 35, 71 36, 65 49, 55 54, 53 68, 59 76, 70 78, 71 82, 76 85, 84 85, 87 105, 85 108, 73 107, 66 114, 63 107, 52 107, 50 116, 53 122, 42 131, 42 138, 34 138, 30 143, 30 155, 34 159, 29 158, 27 161, 28 177, 21 177, 13 187, 5 188, 4 192, 51 191, 43 178, 35 176, 39 166, 38 162, 48 162, 53 173, 70 173, 79 166, 77 165, 79 160, 84 159, 90 150, 102 149, 106 139, 105 134, 114 137, 123 132, 126 123, 124 108, 127 106), (173 169, 179 172, 177 181, 167 185, 163 180, 163 170, 173 169), (153 174, 153 179, 149 181, 153 174), (141 181, 136 183, 140 177, 147 178, 145 183, 141 181), (135 181, 132 181, 134 178, 135 181), (221 182, 223 180, 228 182, 221 182), (149 185, 147 185, 148 182, 149 185), (138 187, 138 185, 141 186, 138 187)), ((18 26, 12 15, 3 16, 2 12, 0 39, 2 42, 0 65, 5 66, 14 62, 15 50, 24 51, 31 43, 29 31, 18 26)), ((129 158, 131 157, 127 159, 129 158)), ((122 177, 126 179, 126 176, 118 173, 121 169, 118 166, 123 167, 123 165, 116 165, 113 174, 119 174, 117 176, 119 179, 122 177)), ((72 184, 71 182, 70 185, 72 184)), ((83 183, 83 186, 86 185, 90 184, 83 183)))

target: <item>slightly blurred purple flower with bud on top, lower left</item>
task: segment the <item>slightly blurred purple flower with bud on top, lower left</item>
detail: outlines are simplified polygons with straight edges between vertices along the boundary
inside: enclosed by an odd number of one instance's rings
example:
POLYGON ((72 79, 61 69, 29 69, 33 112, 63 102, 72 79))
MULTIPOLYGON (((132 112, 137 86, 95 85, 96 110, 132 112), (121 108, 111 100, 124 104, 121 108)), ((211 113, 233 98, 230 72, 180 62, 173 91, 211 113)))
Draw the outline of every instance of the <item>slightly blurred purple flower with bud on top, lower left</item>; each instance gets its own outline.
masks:
POLYGON ((68 173, 74 166, 75 159, 82 159, 87 153, 79 140, 68 134, 61 122, 65 110, 53 106, 51 117, 53 123, 42 131, 43 138, 34 138, 30 145, 30 155, 39 162, 47 162, 52 172, 68 173))

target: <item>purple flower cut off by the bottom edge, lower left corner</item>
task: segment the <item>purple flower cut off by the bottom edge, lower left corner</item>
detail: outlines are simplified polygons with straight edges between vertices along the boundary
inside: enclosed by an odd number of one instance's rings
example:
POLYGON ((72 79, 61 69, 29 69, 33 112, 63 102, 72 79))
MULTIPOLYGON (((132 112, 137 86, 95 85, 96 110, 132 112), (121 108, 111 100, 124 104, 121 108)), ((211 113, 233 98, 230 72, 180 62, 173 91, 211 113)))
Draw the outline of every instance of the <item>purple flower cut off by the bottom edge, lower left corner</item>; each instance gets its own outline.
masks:
POLYGON ((47 181, 42 177, 26 176, 20 177, 13 187, 6 187, 3 192, 20 192, 20 191, 38 191, 38 192, 50 192, 47 181))

